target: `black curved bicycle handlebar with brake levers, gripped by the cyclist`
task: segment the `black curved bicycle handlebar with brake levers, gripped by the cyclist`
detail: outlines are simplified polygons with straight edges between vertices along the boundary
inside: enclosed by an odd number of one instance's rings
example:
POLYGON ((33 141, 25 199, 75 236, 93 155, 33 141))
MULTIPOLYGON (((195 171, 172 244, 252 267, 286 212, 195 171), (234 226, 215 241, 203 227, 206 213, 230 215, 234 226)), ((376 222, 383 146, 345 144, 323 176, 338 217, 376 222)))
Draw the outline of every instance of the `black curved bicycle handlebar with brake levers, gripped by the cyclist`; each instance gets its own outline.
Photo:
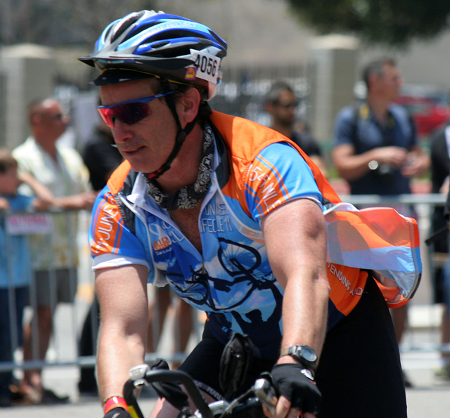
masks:
MULTIPOLYGON (((144 418, 141 408, 137 403, 136 396, 134 396, 134 389, 140 388, 143 385, 148 386, 149 384, 156 382, 174 382, 184 385, 188 396, 191 397, 195 407, 198 408, 197 411, 191 413, 191 415, 196 418, 214 418, 214 412, 215 414, 224 414, 226 412, 231 412, 239 405, 243 405, 241 402, 242 397, 236 398, 230 403, 219 400, 208 405, 205 398, 203 398, 200 393, 198 386, 195 385, 192 377, 181 370, 150 370, 150 367, 144 364, 133 367, 130 370, 130 376, 131 378, 124 385, 124 399, 129 407, 131 418, 144 418)), ((255 394, 259 403, 264 403, 270 412, 274 414, 275 405, 278 399, 269 380, 264 378, 257 379, 250 389, 250 392, 255 394)))

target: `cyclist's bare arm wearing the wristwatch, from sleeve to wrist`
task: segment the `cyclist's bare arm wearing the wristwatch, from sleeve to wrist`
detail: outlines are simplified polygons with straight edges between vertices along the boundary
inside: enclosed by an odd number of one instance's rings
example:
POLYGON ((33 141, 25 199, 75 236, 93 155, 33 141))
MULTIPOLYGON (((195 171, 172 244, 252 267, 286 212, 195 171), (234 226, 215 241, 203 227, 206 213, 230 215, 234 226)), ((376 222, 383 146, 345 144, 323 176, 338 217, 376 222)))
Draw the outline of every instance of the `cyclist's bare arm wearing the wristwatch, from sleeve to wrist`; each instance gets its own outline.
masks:
POLYGON ((285 291, 282 348, 306 344, 319 354, 330 292, 322 211, 312 200, 294 200, 269 214, 262 228, 269 263, 285 291))

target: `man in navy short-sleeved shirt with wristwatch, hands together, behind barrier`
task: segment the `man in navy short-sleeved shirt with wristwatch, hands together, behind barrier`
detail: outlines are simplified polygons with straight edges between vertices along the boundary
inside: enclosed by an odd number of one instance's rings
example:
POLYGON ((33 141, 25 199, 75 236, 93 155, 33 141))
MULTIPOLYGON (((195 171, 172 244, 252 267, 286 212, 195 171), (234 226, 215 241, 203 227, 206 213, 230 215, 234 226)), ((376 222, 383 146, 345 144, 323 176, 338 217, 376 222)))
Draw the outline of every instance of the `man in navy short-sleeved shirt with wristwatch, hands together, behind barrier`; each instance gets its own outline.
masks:
MULTIPOLYGON (((336 118, 333 164, 353 195, 411 193, 410 178, 423 174, 430 158, 418 145, 408 112, 392 104, 402 84, 399 69, 392 59, 375 60, 364 68, 363 79, 365 102, 345 107, 336 118)), ((413 216, 410 207, 395 209, 413 216)), ((406 306, 392 311, 399 342, 406 329, 406 306)))

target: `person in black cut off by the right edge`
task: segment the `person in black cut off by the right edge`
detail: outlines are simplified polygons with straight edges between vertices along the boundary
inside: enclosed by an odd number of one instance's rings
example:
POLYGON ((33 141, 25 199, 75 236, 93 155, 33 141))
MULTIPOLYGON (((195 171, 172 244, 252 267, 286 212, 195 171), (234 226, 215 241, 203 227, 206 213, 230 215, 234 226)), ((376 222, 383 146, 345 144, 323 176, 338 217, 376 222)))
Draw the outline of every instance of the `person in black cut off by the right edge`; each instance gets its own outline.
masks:
MULTIPOLYGON (((437 130, 431 139, 431 182, 432 193, 449 194, 449 174, 450 174, 450 124, 437 130)), ((432 242, 432 249, 435 253, 448 254, 449 233, 448 221, 444 216, 444 207, 435 207, 432 214, 432 230, 439 231, 444 228, 445 232, 439 234, 432 242)), ((435 303, 443 303, 441 323, 441 342, 450 344, 450 263, 447 261, 444 266, 435 268, 434 279, 434 300, 435 303)), ((436 374, 444 379, 450 379, 450 355, 442 353, 442 365, 436 374)))

